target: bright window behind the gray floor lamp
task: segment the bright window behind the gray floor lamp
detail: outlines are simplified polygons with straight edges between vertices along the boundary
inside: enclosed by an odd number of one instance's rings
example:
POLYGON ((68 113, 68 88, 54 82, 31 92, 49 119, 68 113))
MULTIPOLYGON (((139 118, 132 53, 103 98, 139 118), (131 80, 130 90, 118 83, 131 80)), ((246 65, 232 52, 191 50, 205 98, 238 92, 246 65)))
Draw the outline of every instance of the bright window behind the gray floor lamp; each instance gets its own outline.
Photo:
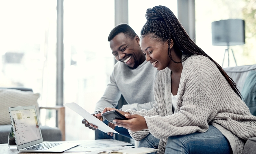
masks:
MULTIPOLYGON (((249 0, 195 0, 195 32, 196 44, 219 65, 222 65, 225 46, 212 46, 211 23, 227 19, 245 20, 245 44, 230 46, 234 51, 237 65, 256 63, 256 37, 254 18, 255 9, 249 0)), ((231 52, 230 52, 231 54, 231 52)), ((227 57, 223 67, 228 67, 227 57)), ((232 54, 230 67, 235 66, 232 54)))

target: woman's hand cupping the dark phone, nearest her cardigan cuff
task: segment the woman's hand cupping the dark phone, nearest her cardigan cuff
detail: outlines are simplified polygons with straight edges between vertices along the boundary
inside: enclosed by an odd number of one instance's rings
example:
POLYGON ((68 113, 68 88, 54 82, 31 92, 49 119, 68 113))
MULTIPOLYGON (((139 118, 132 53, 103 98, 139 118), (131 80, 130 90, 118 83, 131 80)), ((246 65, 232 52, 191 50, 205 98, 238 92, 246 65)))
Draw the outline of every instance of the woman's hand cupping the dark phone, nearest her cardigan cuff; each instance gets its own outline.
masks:
POLYGON ((133 132, 137 132, 143 129, 148 129, 148 125, 144 117, 137 114, 131 115, 130 113, 124 114, 124 116, 127 117, 129 120, 115 119, 113 120, 113 122, 116 122, 115 126, 124 127, 133 132))

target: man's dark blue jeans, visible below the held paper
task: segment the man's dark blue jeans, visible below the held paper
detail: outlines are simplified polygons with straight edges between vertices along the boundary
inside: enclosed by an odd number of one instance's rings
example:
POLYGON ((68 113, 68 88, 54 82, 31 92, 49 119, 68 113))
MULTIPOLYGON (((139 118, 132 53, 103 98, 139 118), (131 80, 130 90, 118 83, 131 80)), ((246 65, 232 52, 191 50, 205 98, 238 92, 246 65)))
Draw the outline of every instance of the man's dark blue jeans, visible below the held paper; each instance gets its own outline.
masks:
MULTIPOLYGON (((106 125, 108 125, 108 121, 107 120, 104 120, 103 122, 106 125)), ((130 136, 130 134, 129 134, 129 132, 128 132, 128 130, 126 128, 116 126, 114 130, 119 132, 120 135, 123 135, 125 137, 129 137, 130 139, 132 139, 132 137, 130 136)), ((95 130, 95 139, 114 139, 114 137, 111 137, 107 133, 102 132, 100 130, 95 130)))

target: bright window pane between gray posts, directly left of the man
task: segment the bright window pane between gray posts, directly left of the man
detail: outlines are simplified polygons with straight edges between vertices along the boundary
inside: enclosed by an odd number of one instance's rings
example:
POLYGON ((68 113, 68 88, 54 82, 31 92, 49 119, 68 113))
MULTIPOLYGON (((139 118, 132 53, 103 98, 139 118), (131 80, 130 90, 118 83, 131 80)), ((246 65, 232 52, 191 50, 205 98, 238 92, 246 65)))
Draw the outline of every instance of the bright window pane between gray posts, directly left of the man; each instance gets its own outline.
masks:
MULTIPOLYGON (((114 66, 107 41, 114 6, 114 0, 64 0, 64 104, 76 102, 93 113, 102 97, 114 66)), ((94 139, 80 115, 69 108, 65 114, 66 140, 94 139)))

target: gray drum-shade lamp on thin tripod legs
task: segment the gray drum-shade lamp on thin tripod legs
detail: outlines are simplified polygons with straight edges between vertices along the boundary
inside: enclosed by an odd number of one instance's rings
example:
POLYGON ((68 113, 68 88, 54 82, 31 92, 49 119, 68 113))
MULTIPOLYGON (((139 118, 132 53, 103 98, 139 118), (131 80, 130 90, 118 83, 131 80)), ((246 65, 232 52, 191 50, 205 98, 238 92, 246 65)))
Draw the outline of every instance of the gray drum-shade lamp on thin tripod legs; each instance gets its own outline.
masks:
MULTIPOLYGON (((241 19, 228 19, 212 22, 212 40, 213 46, 228 47, 224 52, 221 67, 223 67, 226 52, 228 53, 229 67, 229 46, 242 45, 245 43, 245 21, 241 19)), ((234 52, 232 49, 231 51, 234 57, 234 52)), ((234 61, 236 63, 235 57, 234 61)))

